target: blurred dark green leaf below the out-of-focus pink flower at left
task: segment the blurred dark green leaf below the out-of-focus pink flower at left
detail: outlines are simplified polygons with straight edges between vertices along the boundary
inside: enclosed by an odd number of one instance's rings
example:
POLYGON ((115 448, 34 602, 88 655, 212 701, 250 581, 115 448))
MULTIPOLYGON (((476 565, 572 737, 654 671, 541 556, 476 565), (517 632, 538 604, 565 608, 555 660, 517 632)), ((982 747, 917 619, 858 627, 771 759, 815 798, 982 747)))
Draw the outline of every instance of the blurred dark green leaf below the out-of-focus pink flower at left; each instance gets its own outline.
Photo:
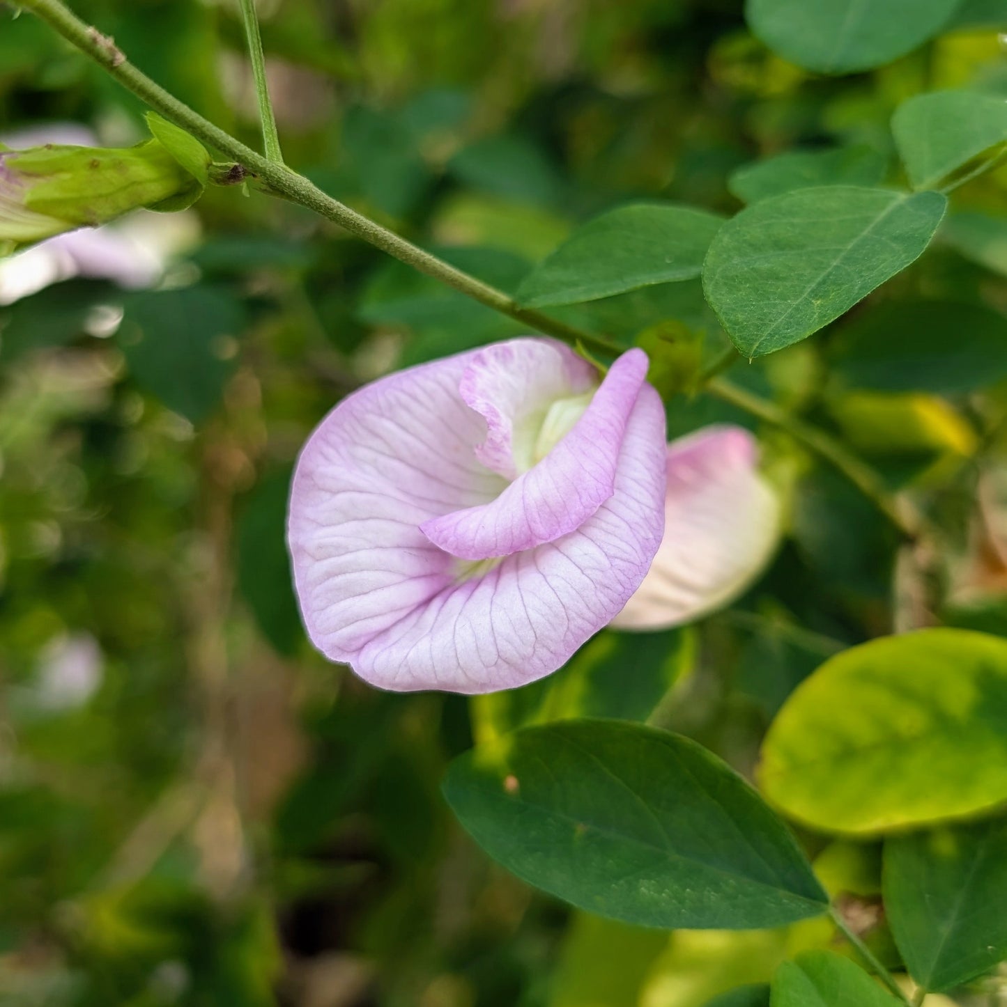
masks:
POLYGON ((244 324, 241 303, 226 291, 186 287, 130 295, 118 339, 137 384, 199 423, 234 372, 230 340, 244 324))

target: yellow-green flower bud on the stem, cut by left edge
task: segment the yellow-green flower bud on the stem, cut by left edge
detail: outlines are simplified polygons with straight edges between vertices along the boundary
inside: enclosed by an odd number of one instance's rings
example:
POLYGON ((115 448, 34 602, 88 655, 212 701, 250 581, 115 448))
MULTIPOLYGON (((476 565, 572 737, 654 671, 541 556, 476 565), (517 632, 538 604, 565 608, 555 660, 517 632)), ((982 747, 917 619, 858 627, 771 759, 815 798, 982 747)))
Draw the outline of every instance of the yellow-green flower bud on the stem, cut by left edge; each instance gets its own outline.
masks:
POLYGON ((140 206, 182 209, 204 181, 157 138, 126 149, 0 146, 0 247, 98 227, 140 206))

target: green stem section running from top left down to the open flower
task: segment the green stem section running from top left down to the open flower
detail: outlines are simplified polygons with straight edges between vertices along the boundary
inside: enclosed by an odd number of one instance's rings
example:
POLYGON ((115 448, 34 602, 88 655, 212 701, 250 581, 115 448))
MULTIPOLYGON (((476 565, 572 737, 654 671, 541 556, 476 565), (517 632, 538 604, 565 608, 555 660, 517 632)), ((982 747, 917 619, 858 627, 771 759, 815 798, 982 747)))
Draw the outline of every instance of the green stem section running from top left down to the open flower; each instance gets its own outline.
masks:
POLYGON ((111 38, 82 21, 60 0, 19 0, 19 3, 25 10, 31 11, 46 21, 77 48, 101 63, 120 84, 159 112, 169 122, 173 122, 208 146, 215 147, 242 164, 270 192, 314 210, 327 220, 340 225, 350 234, 363 239, 375 248, 381 249, 382 252, 386 252, 420 273, 425 273, 427 276, 447 283, 448 286, 468 294, 487 307, 508 315, 538 332, 553 335, 572 344, 576 344, 580 340, 586 348, 608 356, 617 356, 623 351, 624 347, 603 336, 582 332, 580 329, 555 318, 550 318, 540 311, 522 308, 503 291, 456 269, 436 256, 430 255, 429 252, 425 252, 404 238, 400 238, 394 232, 382 228, 351 209, 338 199, 326 195, 317 185, 290 171, 284 165, 257 154, 187 105, 179 102, 160 85, 151 81, 129 62, 111 38))

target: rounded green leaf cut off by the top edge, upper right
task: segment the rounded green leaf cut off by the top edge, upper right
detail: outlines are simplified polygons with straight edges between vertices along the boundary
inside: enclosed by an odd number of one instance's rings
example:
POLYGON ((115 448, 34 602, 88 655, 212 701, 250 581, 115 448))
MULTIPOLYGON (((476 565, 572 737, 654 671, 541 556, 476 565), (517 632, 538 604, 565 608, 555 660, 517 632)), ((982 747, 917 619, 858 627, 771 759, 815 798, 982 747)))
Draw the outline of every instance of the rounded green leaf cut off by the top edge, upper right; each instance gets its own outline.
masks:
POLYGON ((784 59, 822 74, 891 62, 937 34, 959 0, 747 0, 755 35, 784 59))

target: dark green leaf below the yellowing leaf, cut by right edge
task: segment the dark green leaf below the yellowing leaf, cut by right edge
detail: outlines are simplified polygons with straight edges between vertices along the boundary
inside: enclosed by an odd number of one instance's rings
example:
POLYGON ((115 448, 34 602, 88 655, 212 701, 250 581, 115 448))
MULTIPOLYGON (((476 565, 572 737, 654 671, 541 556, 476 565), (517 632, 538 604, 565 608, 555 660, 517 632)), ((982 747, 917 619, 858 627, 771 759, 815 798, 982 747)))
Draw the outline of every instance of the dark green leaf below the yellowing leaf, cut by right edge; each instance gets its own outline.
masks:
POLYGON ((1007 821, 888 840, 885 911, 912 977, 935 993, 1007 959, 1007 821))

